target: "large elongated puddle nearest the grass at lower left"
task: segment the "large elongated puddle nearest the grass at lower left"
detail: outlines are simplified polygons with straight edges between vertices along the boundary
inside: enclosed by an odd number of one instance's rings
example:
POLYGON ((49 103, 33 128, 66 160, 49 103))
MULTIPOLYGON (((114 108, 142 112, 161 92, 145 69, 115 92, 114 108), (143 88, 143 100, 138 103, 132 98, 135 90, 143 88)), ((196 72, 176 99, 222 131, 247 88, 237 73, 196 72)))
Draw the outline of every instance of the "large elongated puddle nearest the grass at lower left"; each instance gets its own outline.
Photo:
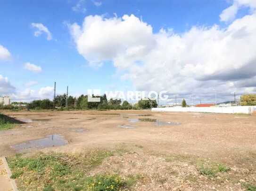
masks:
POLYGON ((49 135, 46 138, 28 141, 17 145, 12 145, 11 148, 15 149, 18 153, 22 153, 26 149, 38 150, 52 146, 66 145, 67 141, 60 135, 49 135))

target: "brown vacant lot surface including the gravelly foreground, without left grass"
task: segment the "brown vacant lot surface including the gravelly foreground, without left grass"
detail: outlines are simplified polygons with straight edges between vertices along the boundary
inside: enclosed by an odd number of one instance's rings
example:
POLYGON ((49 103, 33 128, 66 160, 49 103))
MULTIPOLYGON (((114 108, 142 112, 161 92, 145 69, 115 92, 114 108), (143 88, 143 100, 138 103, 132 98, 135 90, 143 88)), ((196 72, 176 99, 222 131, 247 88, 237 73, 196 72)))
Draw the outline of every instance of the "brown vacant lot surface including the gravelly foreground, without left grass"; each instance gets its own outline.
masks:
POLYGON ((68 154, 95 149, 113 151, 115 154, 90 169, 89 174, 143 175, 129 188, 131 190, 256 189, 253 186, 256 185, 255 114, 151 111, 2 113, 26 123, 0 131, 0 155, 36 153, 34 148, 18 150, 16 147, 15 150, 11 146, 60 135, 66 145, 41 151, 68 154))

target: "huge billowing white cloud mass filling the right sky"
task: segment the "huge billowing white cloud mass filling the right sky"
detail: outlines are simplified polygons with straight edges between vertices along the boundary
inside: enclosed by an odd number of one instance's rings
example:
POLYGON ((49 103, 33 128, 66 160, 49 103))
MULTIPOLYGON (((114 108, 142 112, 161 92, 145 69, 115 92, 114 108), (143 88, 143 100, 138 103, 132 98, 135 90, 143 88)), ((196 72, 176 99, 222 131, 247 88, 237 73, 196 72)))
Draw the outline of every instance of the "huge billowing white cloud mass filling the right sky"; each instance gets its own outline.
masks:
MULTIPOLYGON (((227 28, 194 26, 182 34, 152 32, 134 15, 87 16, 70 26, 78 52, 91 64, 113 61, 138 90, 224 95, 245 91, 230 86, 256 76, 256 13, 227 28), (104 32, 102 32, 104 31, 104 32)), ((253 90, 253 89, 252 89, 253 90)))

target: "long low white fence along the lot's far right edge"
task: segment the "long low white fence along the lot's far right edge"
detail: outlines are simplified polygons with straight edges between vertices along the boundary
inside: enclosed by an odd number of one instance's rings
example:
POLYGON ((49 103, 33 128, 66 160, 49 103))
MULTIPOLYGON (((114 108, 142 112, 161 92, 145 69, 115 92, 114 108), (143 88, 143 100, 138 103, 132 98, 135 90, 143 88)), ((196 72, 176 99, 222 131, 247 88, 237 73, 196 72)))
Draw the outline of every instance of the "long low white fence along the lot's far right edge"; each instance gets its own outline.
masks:
POLYGON ((157 107, 151 111, 169 111, 169 112, 206 112, 221 114, 252 114, 253 106, 232 106, 232 107, 157 107))

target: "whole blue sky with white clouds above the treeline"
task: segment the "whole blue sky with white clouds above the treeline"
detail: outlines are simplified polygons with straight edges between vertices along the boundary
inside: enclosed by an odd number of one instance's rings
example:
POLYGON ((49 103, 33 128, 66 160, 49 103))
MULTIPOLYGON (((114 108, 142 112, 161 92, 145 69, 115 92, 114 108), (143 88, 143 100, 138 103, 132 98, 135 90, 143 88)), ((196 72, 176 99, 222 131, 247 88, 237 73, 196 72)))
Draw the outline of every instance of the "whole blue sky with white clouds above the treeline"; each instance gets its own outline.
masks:
POLYGON ((256 93, 256 0, 2 0, 0 95, 256 93))

